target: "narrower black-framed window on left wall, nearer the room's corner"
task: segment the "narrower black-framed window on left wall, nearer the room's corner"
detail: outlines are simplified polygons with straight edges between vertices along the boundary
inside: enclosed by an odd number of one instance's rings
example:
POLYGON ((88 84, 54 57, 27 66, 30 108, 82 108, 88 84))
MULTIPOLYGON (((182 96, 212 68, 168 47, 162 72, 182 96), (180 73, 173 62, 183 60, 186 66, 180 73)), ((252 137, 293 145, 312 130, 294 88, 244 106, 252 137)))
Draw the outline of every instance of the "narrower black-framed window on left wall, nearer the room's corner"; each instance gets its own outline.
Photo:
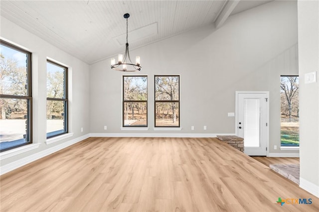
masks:
POLYGON ((46 63, 46 137, 68 132, 68 68, 46 63))

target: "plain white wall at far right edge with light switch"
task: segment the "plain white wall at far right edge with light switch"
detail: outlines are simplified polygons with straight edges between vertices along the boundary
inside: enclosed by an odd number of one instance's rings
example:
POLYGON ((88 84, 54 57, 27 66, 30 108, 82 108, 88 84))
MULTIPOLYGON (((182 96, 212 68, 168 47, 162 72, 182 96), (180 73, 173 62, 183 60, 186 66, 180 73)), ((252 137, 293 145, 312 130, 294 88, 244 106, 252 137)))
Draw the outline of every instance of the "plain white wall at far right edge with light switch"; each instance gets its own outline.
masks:
POLYGON ((319 1, 298 1, 300 187, 319 197, 319 1), (305 84, 305 74, 317 82, 305 84))

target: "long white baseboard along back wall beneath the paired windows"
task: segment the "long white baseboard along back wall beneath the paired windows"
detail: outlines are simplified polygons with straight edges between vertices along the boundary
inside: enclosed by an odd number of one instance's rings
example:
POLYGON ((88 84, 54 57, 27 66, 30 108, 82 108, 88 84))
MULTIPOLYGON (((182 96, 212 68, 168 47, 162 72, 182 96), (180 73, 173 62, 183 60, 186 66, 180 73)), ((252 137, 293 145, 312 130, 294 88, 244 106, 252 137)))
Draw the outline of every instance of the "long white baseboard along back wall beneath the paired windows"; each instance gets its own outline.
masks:
POLYGON ((90 133, 89 137, 181 137, 209 138, 217 135, 235 135, 235 133, 90 133))

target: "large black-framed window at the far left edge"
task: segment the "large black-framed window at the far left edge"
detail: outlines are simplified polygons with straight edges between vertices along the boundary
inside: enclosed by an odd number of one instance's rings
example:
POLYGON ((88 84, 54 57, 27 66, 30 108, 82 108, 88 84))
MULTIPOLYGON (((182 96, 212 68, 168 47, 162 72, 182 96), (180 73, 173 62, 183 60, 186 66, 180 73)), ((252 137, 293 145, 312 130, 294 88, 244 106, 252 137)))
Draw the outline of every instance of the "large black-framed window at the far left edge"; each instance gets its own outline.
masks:
POLYGON ((0 40, 0 151, 32 143, 31 53, 0 40))

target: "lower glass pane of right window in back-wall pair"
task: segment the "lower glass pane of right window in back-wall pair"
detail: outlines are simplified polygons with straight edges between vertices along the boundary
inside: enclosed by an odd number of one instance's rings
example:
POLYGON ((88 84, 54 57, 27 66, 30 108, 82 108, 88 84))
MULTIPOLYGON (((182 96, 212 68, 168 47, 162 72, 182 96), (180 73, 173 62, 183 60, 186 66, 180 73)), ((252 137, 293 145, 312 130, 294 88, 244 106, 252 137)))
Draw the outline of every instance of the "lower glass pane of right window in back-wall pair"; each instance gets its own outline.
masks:
POLYGON ((179 126, 179 103, 155 103, 155 126, 179 126))

